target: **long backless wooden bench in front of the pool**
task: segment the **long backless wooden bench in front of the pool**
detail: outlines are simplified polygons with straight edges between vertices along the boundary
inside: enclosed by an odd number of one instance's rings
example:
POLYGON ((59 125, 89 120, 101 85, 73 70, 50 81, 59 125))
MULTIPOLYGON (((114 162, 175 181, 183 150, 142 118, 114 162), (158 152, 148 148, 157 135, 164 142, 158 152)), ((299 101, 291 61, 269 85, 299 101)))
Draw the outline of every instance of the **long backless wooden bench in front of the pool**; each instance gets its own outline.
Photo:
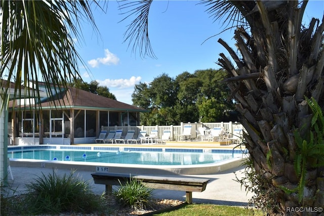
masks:
POLYGON ((128 175, 118 173, 100 173, 91 174, 95 184, 106 185, 106 193, 112 192, 112 185, 124 185, 130 178, 142 181, 146 187, 153 189, 176 190, 186 192, 186 202, 192 203, 192 192, 205 191, 209 179, 199 179, 190 177, 160 177, 160 176, 142 176, 128 175), (120 181, 120 183, 119 183, 120 181))

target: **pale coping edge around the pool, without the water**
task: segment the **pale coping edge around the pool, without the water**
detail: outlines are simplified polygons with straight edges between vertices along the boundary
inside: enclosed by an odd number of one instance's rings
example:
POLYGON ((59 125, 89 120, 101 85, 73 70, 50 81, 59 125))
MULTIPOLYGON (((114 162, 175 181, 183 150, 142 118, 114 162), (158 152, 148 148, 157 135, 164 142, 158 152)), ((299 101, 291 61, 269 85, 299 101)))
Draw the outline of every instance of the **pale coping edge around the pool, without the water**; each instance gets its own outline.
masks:
MULTIPOLYGON (((79 147, 79 145, 76 146, 64 146, 64 145, 44 145, 44 148, 58 148, 60 147, 60 150, 64 149, 73 149, 76 148, 73 147, 79 147), (63 147, 63 149, 61 149, 63 147), (69 147, 69 148, 68 148, 69 147)), ((98 145, 82 145, 83 147, 89 147, 95 148, 98 145)), ((109 147, 102 146, 100 148, 116 148, 116 146, 108 145, 109 147)), ((191 150, 193 148, 206 151, 210 151, 211 148, 206 147, 188 147, 188 146, 166 146, 166 145, 150 145, 151 148, 163 148, 165 149, 181 149, 181 148, 190 148, 191 150)), ((39 148, 39 146, 14 146, 9 147, 8 151, 10 151, 11 148, 20 148, 20 149, 32 149, 32 148, 39 148)), ((130 145, 118 145, 120 148, 147 148, 147 145, 136 145, 136 147, 131 147, 130 145)), ((226 151, 229 150, 229 148, 215 148, 217 150, 224 149, 226 151)), ((89 149, 80 149, 80 150, 89 150, 89 149)), ((96 149, 98 150, 98 149, 96 149)), ((107 149, 102 149, 107 150, 107 149)), ((99 151, 99 150, 98 150, 99 151)), ((159 151, 160 152, 160 151, 159 151)), ((131 173, 131 174, 155 174, 155 175, 210 175, 215 174, 217 172, 221 172, 224 170, 228 170, 234 167, 238 167, 242 165, 244 162, 245 157, 242 155, 242 157, 235 157, 228 160, 224 160, 221 162, 215 162, 215 163, 208 163, 208 164, 193 164, 193 165, 143 165, 143 164, 121 164, 121 163, 102 163, 102 162, 82 162, 80 164, 78 161, 54 161, 54 160, 35 160, 35 159, 10 159, 11 166, 19 166, 19 167, 46 167, 46 168, 58 168, 58 169, 76 169, 76 170, 85 170, 85 171, 94 171, 96 172, 97 167, 105 167, 106 171, 109 172, 118 172, 118 173, 131 173)))

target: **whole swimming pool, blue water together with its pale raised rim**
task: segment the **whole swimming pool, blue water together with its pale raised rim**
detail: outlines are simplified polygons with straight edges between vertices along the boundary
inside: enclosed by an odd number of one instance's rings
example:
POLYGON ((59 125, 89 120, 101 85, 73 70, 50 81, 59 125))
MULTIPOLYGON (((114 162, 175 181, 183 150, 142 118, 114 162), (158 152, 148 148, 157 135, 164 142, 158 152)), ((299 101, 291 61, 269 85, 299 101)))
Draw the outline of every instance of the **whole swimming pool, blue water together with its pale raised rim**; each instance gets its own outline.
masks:
POLYGON ((69 164, 77 169, 85 169, 87 166, 92 167, 91 170, 98 166, 106 167, 111 172, 131 169, 132 172, 144 174, 151 169, 155 172, 168 171, 176 174, 209 174, 221 171, 223 168, 218 166, 222 163, 241 159, 242 151, 211 148, 41 145, 8 147, 8 157, 14 163, 24 162, 20 164, 22 166, 26 163, 40 163, 41 167, 69 164))

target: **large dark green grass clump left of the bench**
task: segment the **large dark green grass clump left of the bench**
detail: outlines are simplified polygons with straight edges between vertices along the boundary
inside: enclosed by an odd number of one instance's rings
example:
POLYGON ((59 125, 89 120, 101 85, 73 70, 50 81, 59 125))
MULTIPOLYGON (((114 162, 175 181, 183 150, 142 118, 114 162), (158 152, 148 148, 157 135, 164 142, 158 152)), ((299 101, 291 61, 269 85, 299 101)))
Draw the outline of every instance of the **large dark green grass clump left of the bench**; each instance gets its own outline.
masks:
POLYGON ((101 207, 101 198, 91 192, 89 182, 74 176, 75 171, 69 175, 58 176, 53 174, 34 180, 27 184, 27 197, 25 199, 28 211, 33 214, 83 212, 90 213, 101 207))

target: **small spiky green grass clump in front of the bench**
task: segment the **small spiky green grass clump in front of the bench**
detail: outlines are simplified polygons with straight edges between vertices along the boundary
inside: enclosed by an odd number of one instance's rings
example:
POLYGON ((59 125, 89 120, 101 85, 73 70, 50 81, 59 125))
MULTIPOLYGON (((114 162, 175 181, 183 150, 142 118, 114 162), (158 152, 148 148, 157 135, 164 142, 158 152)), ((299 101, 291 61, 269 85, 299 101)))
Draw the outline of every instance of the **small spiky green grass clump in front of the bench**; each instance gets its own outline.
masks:
MULTIPOLYGON (((120 183, 120 181, 119 181, 120 183)), ((152 188, 142 184, 142 181, 130 178, 125 185, 121 185, 118 190, 113 192, 116 201, 124 206, 130 206, 133 209, 143 209, 150 204, 152 188)))

